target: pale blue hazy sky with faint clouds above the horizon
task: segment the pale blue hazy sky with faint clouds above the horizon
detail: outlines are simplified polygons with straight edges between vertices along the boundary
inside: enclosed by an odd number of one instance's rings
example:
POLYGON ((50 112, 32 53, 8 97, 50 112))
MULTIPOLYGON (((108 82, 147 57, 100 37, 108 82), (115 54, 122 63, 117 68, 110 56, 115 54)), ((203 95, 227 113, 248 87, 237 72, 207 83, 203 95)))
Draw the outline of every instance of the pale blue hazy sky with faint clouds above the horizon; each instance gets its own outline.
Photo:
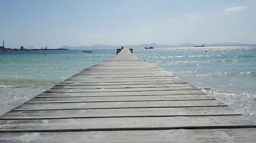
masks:
POLYGON ((0 0, 0 19, 9 48, 256 44, 256 1, 247 0, 0 0))

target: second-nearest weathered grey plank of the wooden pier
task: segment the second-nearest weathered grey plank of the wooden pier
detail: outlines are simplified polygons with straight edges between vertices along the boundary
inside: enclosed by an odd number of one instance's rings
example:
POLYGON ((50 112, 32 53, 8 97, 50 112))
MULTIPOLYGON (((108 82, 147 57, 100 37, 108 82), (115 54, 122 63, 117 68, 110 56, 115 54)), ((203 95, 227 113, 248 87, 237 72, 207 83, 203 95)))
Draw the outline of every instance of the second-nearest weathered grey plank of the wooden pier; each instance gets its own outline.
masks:
POLYGON ((255 128, 243 116, 0 120, 0 132, 255 128), (200 123, 200 124, 199 124, 200 123))

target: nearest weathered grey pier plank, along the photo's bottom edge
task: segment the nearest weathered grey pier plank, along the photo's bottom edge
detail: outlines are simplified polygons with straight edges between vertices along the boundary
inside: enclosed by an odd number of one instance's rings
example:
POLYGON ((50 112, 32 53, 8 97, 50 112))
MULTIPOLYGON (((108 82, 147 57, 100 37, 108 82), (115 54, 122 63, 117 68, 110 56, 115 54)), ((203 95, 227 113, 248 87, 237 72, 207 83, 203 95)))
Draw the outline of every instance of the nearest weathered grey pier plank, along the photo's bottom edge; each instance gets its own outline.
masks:
POLYGON ((8 132, 0 134, 0 142, 255 142, 256 129, 140 130, 91 132, 8 132))

